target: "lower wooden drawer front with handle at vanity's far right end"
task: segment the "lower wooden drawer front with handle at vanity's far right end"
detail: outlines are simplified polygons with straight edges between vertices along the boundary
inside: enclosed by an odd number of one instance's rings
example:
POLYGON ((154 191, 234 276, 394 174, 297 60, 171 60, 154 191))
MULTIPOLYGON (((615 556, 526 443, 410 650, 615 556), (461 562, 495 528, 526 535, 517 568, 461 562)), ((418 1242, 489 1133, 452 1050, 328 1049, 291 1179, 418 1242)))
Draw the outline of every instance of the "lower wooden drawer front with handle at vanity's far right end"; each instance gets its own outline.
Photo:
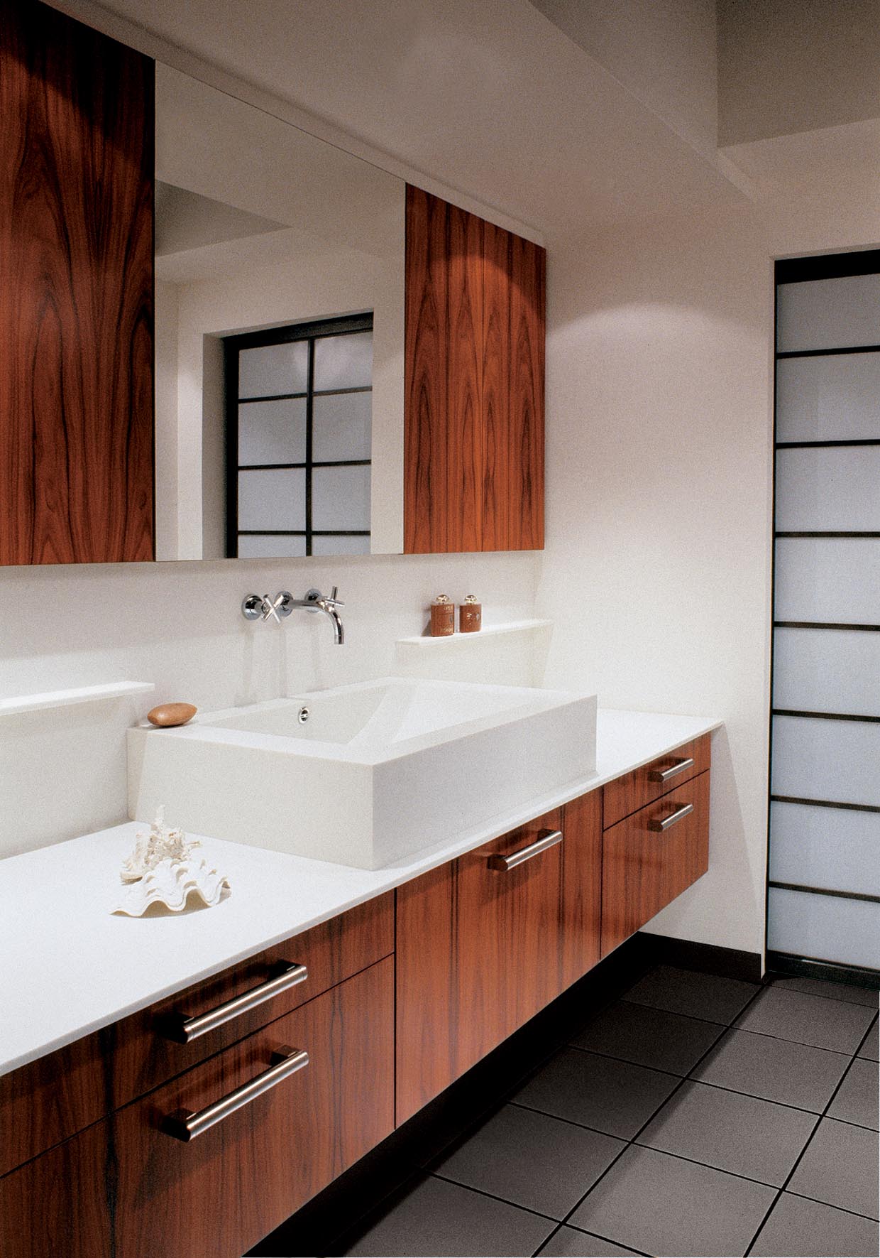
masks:
POLYGON ((709 868, 709 774, 602 837, 602 956, 634 935, 709 868), (675 814, 693 805, 680 820, 675 814), (656 827, 673 818, 669 829, 656 827))

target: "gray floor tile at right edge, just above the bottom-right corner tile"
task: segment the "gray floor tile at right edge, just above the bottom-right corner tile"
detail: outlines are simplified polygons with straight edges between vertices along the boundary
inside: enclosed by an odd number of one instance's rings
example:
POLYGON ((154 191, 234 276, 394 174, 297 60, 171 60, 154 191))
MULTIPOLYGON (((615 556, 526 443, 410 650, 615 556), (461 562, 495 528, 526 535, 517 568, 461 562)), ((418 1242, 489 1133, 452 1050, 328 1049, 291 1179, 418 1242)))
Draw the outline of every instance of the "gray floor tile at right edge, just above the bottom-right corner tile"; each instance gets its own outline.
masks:
POLYGON ((788 1191, 877 1218, 877 1137, 864 1127, 822 1118, 787 1184, 788 1191))

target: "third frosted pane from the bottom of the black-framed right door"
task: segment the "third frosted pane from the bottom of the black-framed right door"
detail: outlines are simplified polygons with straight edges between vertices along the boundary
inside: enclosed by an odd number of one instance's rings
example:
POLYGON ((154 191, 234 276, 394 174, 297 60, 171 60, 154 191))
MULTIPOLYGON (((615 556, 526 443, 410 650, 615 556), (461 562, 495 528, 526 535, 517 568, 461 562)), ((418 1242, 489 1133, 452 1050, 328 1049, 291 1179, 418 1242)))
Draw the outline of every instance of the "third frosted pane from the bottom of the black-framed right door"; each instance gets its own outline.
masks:
POLYGON ((880 725, 773 717, 774 795, 880 805, 880 725))

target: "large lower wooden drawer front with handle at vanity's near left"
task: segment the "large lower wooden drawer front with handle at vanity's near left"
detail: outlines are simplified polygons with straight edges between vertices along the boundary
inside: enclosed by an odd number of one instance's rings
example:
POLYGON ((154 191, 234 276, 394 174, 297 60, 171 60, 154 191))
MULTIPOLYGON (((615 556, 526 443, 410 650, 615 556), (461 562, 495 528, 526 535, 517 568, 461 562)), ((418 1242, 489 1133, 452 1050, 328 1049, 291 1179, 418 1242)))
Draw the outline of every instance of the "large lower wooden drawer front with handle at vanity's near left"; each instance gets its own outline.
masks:
POLYGON ((391 957, 111 1120, 116 1258, 238 1258, 393 1127, 391 957), (308 1064, 189 1144, 161 1130, 305 1050, 308 1064))

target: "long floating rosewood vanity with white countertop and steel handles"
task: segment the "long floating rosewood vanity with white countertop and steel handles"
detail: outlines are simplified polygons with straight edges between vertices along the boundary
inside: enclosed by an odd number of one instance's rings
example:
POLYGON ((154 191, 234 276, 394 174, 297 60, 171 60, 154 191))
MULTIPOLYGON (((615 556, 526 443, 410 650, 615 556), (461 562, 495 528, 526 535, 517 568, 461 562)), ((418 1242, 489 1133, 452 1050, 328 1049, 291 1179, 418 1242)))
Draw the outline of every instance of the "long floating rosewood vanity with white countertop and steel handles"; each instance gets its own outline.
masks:
POLYGON ((205 838, 179 916, 108 912, 135 823, 1 862, 4 1258, 238 1258, 705 872, 718 725, 380 869, 205 838))

